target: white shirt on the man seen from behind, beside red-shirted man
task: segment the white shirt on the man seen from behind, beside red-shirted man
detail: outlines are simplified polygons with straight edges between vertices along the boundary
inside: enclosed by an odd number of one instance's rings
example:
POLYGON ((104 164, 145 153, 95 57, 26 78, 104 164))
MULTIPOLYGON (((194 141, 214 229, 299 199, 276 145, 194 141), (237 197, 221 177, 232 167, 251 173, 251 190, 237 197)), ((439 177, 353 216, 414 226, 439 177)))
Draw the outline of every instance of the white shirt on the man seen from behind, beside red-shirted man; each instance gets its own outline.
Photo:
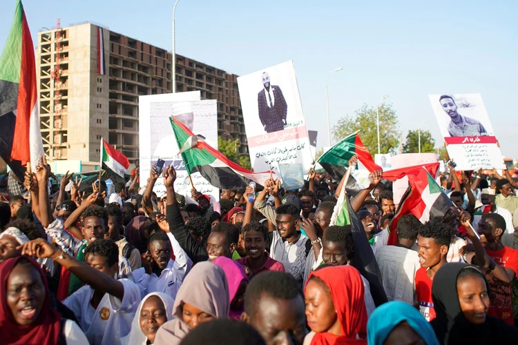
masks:
POLYGON ((383 246, 376 251, 383 288, 389 301, 414 304, 414 277, 419 270, 419 255, 399 246, 383 246))

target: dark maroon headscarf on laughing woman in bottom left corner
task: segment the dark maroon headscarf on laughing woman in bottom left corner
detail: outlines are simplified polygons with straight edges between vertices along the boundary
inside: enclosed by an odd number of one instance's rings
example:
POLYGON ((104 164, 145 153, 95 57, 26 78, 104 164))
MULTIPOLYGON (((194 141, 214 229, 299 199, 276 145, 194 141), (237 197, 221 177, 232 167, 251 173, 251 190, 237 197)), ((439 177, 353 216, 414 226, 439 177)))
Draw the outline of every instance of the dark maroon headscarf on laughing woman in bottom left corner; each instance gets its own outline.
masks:
POLYGON ((0 264, 0 334, 2 344, 57 344, 61 333, 61 314, 50 306, 50 293, 44 271, 28 257, 12 257, 0 264), (41 275, 45 286, 45 300, 35 322, 29 326, 18 324, 7 305, 7 279, 20 259, 27 259, 41 275))

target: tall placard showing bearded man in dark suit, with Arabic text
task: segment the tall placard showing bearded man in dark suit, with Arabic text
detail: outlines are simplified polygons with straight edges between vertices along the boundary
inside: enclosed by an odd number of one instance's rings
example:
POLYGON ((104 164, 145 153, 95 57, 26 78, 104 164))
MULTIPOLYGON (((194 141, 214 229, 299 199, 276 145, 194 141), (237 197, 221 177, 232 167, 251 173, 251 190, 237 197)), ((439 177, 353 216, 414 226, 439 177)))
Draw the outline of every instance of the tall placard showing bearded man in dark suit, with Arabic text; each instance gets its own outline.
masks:
POLYGON ((254 171, 313 164, 293 61, 238 77, 239 96, 254 171))

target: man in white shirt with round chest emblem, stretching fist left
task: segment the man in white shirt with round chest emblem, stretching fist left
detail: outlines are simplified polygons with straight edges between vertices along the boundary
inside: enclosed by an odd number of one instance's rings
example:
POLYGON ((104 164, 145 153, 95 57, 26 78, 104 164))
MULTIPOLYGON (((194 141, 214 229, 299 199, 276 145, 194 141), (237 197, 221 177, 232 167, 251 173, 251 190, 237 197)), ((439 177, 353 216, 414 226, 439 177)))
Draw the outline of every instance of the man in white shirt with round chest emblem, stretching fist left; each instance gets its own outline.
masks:
POLYGON ((28 242, 25 255, 50 257, 86 282, 64 304, 75 314, 88 342, 92 345, 117 345, 128 335, 140 303, 140 291, 128 279, 113 279, 119 266, 119 250, 112 241, 98 239, 85 250, 85 262, 73 259, 66 251, 44 239, 28 242))

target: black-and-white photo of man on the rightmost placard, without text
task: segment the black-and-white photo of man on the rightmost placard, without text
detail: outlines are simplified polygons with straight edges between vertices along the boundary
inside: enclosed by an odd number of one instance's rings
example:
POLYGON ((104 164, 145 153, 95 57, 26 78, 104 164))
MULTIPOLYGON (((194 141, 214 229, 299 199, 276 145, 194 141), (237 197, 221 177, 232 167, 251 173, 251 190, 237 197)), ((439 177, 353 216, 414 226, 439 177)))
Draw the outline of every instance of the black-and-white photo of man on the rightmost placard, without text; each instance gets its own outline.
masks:
POLYGON ((430 95, 443 137, 495 137, 479 93, 430 95))

